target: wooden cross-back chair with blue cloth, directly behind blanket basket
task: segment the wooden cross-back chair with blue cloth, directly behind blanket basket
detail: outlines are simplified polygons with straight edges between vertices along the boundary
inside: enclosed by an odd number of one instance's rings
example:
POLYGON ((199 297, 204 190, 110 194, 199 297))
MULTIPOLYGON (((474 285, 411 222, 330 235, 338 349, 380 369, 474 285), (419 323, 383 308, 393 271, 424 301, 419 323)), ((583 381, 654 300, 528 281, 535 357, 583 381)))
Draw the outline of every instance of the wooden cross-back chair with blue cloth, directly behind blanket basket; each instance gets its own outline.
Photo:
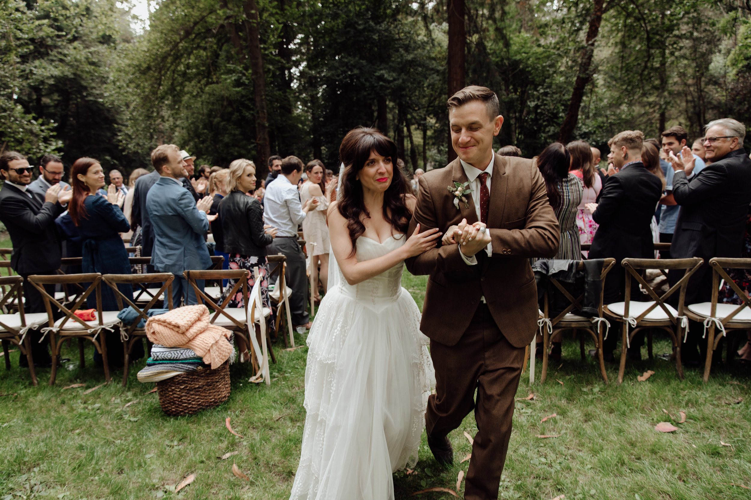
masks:
MULTIPOLYGON (((131 361, 131 351, 136 342, 140 342, 146 338, 146 329, 138 328, 140 320, 147 321, 149 315, 146 312, 149 309, 162 309, 164 303, 161 297, 164 293, 167 293, 168 309, 172 310, 172 281, 175 279, 175 275, 172 273, 152 273, 152 274, 104 274, 102 280, 104 284, 110 287, 115 293, 117 300, 118 310, 123 310, 125 307, 132 307, 136 313, 138 313, 137 319, 131 325, 124 325, 120 323, 120 340, 122 340, 123 351, 123 365, 122 365, 122 387, 128 385, 128 367, 131 361), (127 284, 131 286, 145 286, 148 283, 160 283, 158 291, 152 295, 150 301, 144 306, 137 305, 136 301, 128 298, 126 295, 122 295, 120 289, 117 288, 118 284, 127 284)), ((148 352, 148 350, 147 350, 148 352)))

